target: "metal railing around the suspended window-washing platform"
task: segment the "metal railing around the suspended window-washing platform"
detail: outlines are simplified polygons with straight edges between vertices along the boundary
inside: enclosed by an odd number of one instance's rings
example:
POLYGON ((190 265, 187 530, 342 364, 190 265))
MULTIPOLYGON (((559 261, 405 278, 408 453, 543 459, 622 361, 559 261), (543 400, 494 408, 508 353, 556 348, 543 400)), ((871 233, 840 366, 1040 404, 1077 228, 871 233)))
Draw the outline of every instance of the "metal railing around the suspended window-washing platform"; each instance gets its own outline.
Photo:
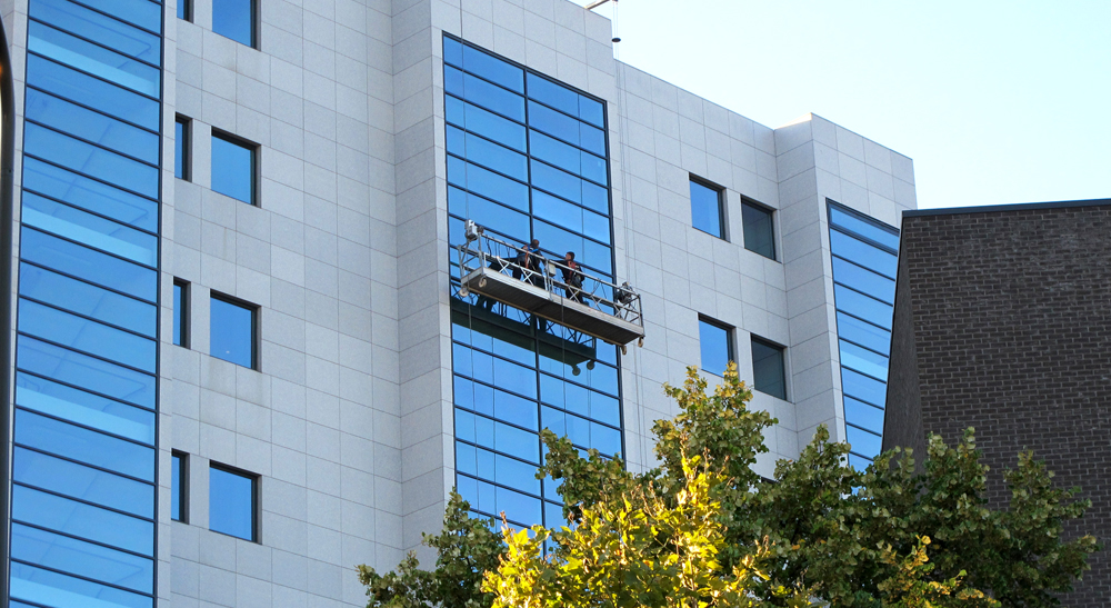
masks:
MULTIPOLYGON (((560 296, 564 301, 570 300, 572 305, 593 308, 624 321, 644 326, 640 293, 637 293, 628 281, 617 285, 590 275, 581 267, 572 270, 562 260, 552 260, 540 251, 491 237, 472 220, 467 220, 466 233, 466 242, 456 246, 460 277, 466 277, 479 268, 489 268, 539 287, 552 296, 560 296), (582 278, 581 286, 569 282, 575 273, 582 278)), ((468 296, 466 287, 460 295, 468 296)))

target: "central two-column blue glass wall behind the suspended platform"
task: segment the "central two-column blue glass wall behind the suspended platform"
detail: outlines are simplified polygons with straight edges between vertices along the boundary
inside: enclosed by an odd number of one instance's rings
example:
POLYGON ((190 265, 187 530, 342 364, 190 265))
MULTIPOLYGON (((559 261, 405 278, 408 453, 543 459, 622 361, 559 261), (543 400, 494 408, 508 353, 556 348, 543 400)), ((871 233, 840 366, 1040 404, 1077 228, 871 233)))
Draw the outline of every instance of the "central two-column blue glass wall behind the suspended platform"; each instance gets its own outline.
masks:
MULTIPOLYGON (((473 219, 517 246, 539 239, 549 259, 573 251, 587 272, 612 280, 602 102, 451 37, 443 57, 451 243, 473 219)), ((449 256, 459 492, 484 516, 560 526, 556 486, 536 479, 539 430, 622 451, 617 349, 461 297, 449 256)))

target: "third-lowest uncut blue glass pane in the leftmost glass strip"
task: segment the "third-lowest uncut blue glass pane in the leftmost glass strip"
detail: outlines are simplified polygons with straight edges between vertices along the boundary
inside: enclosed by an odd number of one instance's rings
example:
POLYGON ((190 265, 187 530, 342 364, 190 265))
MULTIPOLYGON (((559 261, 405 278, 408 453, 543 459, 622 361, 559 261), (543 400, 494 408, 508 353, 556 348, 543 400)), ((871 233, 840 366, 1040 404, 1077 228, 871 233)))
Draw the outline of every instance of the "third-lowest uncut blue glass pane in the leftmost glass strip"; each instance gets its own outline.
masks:
POLYGON ((154 518, 154 486, 26 448, 14 449, 16 481, 154 518))

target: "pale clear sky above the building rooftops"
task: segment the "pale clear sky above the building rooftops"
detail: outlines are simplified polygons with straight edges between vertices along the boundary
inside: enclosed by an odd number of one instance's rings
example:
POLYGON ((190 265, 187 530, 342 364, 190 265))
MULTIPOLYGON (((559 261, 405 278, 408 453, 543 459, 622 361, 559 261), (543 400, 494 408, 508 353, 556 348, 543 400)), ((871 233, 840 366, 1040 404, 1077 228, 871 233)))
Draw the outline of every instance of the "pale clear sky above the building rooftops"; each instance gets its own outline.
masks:
POLYGON ((622 61, 758 122, 911 157, 919 207, 1111 198, 1111 0, 620 0, 618 30, 622 61))

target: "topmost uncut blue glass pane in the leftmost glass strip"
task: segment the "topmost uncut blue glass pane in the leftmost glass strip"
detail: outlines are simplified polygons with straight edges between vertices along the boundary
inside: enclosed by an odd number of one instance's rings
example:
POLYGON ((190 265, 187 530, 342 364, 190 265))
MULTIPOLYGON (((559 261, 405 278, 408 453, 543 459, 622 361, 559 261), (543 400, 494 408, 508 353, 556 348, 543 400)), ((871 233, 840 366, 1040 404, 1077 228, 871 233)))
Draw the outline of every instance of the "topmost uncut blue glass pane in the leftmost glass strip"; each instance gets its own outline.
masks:
POLYGON ((27 48, 31 52, 143 94, 157 97, 160 92, 161 71, 158 68, 49 26, 31 21, 28 26, 27 48))

